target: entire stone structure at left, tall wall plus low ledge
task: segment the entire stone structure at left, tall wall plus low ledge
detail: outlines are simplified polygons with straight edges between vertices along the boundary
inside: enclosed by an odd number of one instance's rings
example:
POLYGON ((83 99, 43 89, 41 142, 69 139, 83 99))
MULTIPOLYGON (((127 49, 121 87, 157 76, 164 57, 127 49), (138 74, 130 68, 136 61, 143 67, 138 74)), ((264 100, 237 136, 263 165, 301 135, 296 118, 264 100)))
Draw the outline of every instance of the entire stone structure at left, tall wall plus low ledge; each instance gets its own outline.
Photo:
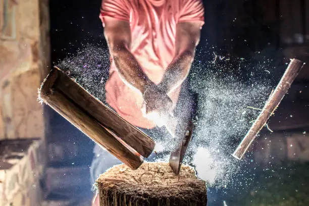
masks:
POLYGON ((0 205, 40 205, 50 68, 48 1, 0 1, 0 205))

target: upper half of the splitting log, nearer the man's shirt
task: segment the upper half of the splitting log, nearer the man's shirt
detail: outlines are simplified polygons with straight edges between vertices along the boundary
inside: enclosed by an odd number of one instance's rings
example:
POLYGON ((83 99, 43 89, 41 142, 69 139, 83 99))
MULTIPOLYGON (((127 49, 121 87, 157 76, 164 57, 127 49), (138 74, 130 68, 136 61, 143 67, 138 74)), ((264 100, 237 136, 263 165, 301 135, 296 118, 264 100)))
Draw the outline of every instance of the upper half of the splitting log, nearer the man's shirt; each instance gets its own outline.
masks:
POLYGON ((102 104, 63 72, 58 69, 57 72, 59 79, 55 87, 58 90, 65 93, 102 126, 112 131, 143 157, 148 157, 151 154, 155 148, 155 141, 102 104))

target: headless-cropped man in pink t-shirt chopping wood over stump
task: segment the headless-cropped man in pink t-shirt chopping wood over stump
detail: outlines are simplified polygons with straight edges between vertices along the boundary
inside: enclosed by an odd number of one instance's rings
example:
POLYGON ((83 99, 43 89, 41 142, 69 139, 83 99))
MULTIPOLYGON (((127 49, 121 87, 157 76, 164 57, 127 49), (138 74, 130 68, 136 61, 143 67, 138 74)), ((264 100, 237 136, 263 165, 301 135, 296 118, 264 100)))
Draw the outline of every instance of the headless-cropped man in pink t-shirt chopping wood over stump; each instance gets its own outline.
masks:
MULTIPOLYGON (((100 19, 111 56, 106 101, 121 117, 152 129, 157 126, 154 116, 173 112, 194 58, 203 15, 201 0, 102 0, 100 19)), ((99 152, 96 146, 93 179, 118 163, 106 152, 110 165, 98 166, 104 164, 99 152)))

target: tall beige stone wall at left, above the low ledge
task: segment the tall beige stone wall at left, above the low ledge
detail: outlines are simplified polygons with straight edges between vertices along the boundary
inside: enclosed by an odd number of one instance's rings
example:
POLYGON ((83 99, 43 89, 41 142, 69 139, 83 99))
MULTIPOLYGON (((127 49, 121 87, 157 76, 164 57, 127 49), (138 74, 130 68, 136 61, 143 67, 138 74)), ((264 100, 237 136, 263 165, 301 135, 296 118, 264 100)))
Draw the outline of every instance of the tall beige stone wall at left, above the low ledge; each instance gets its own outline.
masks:
POLYGON ((0 0, 0 17, 0 139, 44 137, 37 88, 50 64, 48 1, 0 0))

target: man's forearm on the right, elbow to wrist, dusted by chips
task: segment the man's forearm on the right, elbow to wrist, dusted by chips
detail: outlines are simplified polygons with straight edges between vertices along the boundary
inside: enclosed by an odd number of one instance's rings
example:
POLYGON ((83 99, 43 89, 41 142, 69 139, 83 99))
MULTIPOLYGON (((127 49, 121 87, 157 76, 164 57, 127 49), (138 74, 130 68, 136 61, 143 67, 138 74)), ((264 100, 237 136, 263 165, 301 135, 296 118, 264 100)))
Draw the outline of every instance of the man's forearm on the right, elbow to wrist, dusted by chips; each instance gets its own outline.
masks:
POLYGON ((168 66, 163 79, 158 86, 168 94, 181 85, 189 74, 193 59, 194 51, 185 51, 181 53, 168 66))

